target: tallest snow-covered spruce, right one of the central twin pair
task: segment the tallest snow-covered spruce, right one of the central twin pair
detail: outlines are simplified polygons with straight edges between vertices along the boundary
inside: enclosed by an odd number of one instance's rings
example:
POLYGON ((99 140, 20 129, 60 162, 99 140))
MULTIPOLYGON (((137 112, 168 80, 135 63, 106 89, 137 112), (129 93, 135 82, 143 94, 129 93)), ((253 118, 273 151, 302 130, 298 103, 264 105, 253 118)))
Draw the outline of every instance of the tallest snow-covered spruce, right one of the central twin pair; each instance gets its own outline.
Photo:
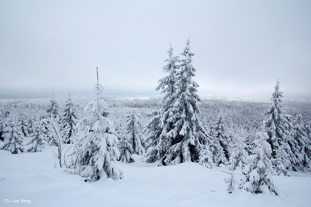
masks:
MULTIPOLYGON (((169 103, 167 110, 160 111, 147 124, 153 128, 155 146, 149 148, 146 162, 157 165, 173 165, 181 162, 198 162, 210 167, 213 162, 209 146, 212 143, 200 121, 201 98, 196 94, 199 85, 193 81, 196 71, 192 65, 190 41, 181 53, 185 59, 175 73, 174 91, 162 103, 169 103)), ((161 109, 164 108, 163 105, 161 109)))

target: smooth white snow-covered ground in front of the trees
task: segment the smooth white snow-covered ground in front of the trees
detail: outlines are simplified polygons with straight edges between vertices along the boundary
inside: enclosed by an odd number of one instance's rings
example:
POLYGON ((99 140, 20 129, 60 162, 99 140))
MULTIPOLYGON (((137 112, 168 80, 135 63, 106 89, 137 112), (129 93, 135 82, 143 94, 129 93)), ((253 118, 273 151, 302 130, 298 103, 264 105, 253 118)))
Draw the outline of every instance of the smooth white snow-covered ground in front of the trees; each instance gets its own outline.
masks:
POLYGON ((311 206, 309 173, 274 176, 280 196, 239 190, 229 194, 224 182, 227 174, 219 167, 117 164, 124 179, 87 183, 59 168, 49 149, 18 155, 0 150, 0 206, 25 206, 21 199, 30 200, 27 206, 311 206))

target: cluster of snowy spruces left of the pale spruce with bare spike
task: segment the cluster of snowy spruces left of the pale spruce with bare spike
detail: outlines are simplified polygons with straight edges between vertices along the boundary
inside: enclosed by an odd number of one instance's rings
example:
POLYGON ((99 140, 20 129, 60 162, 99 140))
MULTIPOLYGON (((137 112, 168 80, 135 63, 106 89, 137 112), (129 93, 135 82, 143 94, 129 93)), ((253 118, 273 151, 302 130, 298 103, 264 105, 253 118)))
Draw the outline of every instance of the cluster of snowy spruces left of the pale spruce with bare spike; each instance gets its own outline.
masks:
MULTIPOLYGON (((28 108, 28 104, 26 107, 28 108)), ((44 111, 37 115, 26 113, 25 108, 10 106, 0 108, 0 135, 4 141, 1 149, 18 154, 29 146, 27 151, 40 152, 44 145, 57 145, 58 131, 63 133, 62 142, 70 143, 72 129, 78 119, 77 109, 70 93, 62 109, 53 94, 44 111), (31 140, 24 143, 25 137, 31 137, 31 140)))

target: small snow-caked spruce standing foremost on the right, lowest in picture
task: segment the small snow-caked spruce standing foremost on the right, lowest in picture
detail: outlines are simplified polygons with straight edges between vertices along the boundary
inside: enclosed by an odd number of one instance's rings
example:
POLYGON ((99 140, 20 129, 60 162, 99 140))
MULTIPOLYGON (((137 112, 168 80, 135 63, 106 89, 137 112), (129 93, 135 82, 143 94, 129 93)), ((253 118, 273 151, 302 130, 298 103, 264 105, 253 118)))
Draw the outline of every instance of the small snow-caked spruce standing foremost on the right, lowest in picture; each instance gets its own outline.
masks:
POLYGON ((266 132, 258 132, 256 135, 259 138, 254 141, 256 147, 253 155, 247 158, 250 164, 245 167, 247 175, 243 189, 253 193, 262 193, 267 187, 278 195, 278 188, 272 178, 273 169, 270 161, 272 150, 270 144, 266 142, 269 137, 266 132))

